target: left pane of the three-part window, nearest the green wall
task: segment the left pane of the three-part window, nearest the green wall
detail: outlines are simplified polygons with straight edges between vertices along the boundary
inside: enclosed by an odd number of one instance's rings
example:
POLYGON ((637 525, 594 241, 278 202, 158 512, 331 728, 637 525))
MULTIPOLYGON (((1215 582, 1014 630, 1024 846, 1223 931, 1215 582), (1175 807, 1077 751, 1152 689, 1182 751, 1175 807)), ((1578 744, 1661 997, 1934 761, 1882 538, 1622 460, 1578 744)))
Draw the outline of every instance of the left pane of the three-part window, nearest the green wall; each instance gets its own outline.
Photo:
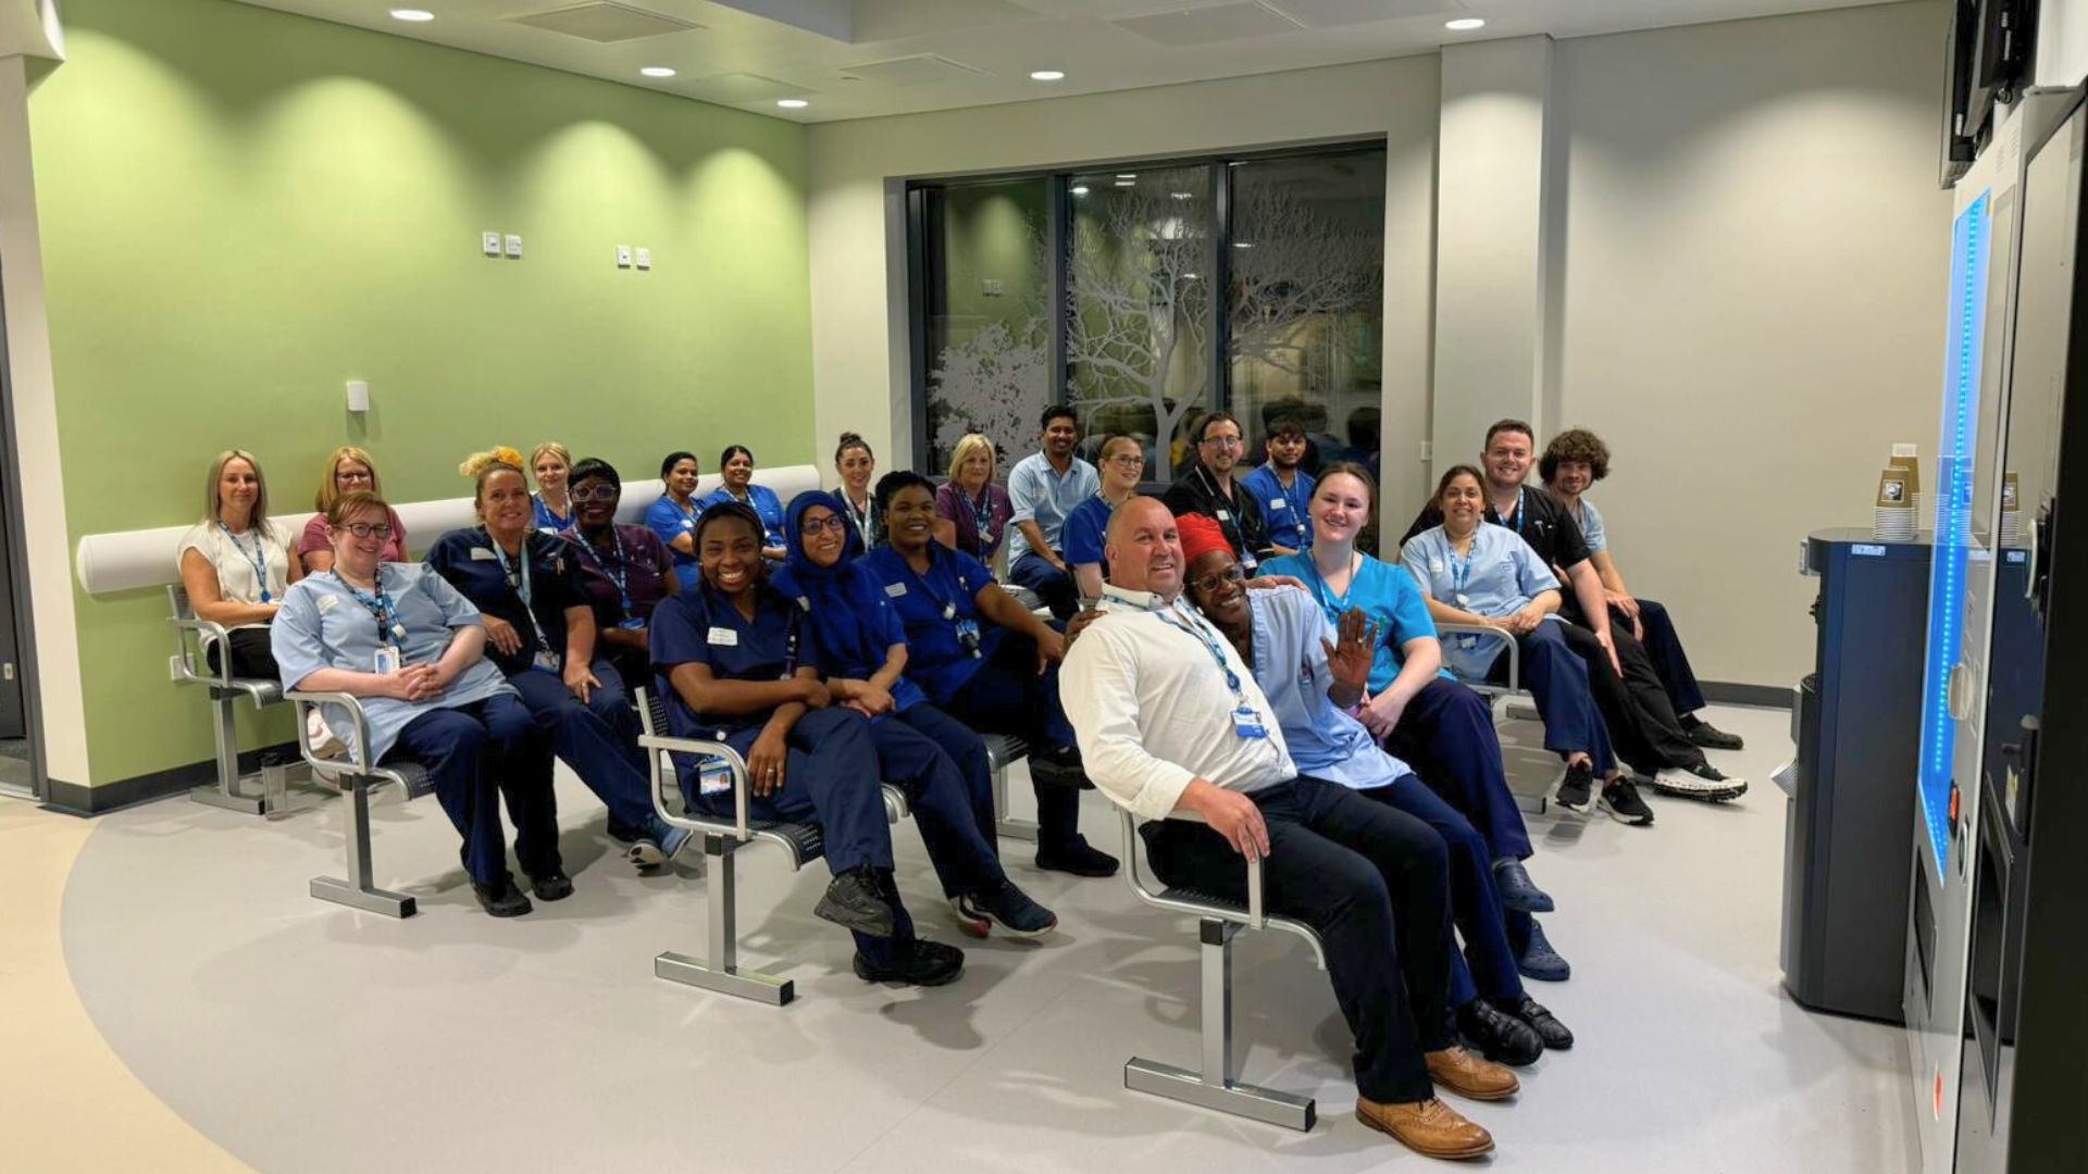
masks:
MULTIPOLYGON (((923 460, 940 476, 967 432, 1011 460, 1038 447, 1038 416, 1052 401, 1050 201, 1044 178, 923 194, 923 460)), ((1004 476, 1009 464, 998 468, 1004 476)))

